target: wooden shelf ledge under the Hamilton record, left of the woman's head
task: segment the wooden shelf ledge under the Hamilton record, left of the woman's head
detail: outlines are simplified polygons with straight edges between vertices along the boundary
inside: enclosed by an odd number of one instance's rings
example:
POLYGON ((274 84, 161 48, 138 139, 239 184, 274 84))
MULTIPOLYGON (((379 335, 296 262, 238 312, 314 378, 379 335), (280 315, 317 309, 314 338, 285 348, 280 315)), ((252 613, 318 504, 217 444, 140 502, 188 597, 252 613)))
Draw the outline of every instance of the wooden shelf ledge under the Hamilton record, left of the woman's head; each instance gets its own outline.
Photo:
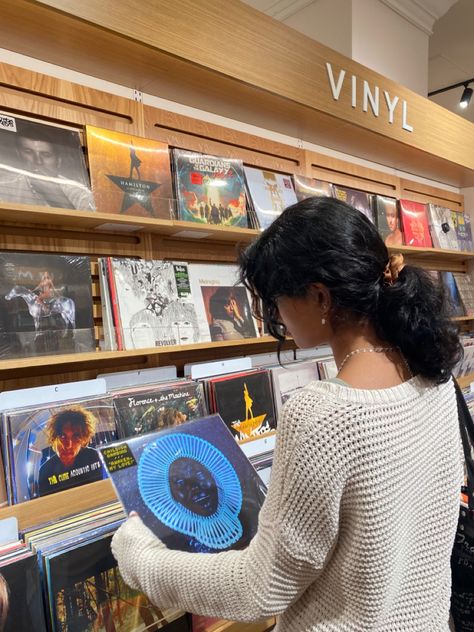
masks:
POLYGON ((166 235, 183 239, 205 239, 221 242, 249 243, 260 234, 250 228, 212 226, 174 219, 153 219, 95 211, 71 211, 62 208, 24 206, 0 202, 0 225, 50 226, 56 230, 79 232, 136 233, 166 235))

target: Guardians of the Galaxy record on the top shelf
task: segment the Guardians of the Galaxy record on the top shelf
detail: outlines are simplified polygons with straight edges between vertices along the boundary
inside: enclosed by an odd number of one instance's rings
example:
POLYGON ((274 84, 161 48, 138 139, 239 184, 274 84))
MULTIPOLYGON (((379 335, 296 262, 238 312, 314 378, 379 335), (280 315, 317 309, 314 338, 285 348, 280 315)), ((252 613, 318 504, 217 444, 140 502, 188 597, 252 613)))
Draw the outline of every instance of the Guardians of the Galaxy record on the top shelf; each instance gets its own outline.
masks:
POLYGON ((241 160, 174 149, 173 167, 179 219, 247 226, 241 160))

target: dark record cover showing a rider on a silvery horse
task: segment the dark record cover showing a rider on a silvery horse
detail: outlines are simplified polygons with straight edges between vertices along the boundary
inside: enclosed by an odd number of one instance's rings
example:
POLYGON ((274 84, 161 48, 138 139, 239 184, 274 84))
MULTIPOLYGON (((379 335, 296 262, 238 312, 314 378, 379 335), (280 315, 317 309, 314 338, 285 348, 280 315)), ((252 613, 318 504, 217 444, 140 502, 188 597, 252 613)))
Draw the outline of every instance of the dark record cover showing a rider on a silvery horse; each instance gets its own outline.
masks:
POLYGON ((95 351, 88 257, 0 253, 0 358, 95 351))

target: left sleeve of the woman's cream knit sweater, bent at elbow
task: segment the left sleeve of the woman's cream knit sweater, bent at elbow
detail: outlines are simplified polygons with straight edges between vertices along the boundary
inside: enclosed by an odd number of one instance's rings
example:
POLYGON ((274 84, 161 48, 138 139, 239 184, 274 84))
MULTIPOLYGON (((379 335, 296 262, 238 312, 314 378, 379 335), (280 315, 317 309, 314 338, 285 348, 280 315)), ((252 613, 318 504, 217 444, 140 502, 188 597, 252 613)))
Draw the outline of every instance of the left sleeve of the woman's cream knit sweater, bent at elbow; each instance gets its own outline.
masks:
MULTIPOLYGON (((112 551, 125 581, 160 607, 238 621, 284 612, 318 576, 337 539, 344 467, 319 397, 290 400, 279 423, 258 531, 242 551, 171 551, 129 518, 112 551)), ((324 407, 323 407, 324 408, 324 407)))

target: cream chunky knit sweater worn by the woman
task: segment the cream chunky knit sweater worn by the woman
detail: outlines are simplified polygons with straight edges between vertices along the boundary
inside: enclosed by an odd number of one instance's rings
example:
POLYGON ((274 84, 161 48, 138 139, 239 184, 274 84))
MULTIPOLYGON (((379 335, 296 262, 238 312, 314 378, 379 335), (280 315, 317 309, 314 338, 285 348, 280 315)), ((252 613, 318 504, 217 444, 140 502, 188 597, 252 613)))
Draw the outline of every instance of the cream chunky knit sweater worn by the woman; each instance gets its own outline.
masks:
POLYGON ((247 549, 170 551, 135 517, 113 554, 161 607, 280 615, 279 632, 445 632, 461 453, 452 382, 313 382, 284 407, 247 549))

